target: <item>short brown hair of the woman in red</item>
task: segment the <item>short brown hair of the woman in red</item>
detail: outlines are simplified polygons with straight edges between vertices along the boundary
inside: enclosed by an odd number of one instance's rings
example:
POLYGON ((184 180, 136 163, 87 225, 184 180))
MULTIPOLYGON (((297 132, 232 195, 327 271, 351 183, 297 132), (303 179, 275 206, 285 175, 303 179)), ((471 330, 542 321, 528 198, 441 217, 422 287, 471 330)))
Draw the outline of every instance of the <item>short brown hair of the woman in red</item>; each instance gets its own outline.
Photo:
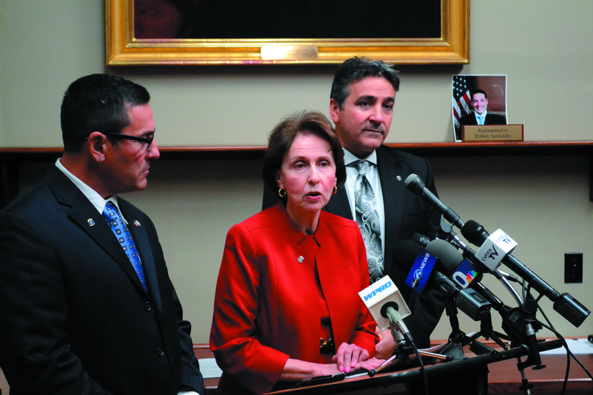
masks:
MULTIPOLYGON (((303 111, 283 119, 270 132, 268 149, 264 155, 262 178, 271 191, 276 191, 276 175, 282 167, 284 157, 290 150, 294 139, 300 134, 313 134, 329 143, 333 162, 336 164, 337 186, 346 182, 344 150, 329 120, 320 112, 303 111)), ((285 199, 286 200, 286 199, 285 199)))

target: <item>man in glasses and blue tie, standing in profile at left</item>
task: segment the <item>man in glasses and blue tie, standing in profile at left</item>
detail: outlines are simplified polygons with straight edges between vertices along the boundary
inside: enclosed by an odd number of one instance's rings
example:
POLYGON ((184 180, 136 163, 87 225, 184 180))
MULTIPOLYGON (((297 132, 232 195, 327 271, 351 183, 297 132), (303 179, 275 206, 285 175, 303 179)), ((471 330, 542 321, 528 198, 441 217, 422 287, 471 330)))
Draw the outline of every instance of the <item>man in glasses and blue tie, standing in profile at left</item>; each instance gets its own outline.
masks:
POLYGON ((0 366, 11 394, 204 394, 153 223, 116 196, 144 189, 159 156, 149 99, 112 75, 73 82, 63 156, 1 211, 0 366))

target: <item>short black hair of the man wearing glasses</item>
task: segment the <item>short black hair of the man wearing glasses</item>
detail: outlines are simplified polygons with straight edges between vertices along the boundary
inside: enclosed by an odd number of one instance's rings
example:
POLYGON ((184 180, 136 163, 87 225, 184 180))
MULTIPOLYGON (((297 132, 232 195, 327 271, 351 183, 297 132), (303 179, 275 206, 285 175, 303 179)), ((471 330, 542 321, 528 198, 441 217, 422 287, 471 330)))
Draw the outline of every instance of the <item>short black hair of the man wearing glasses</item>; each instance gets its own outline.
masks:
POLYGON ((109 74, 77 79, 63 95, 60 120, 64 151, 80 150, 92 132, 120 133, 130 124, 128 107, 147 104, 144 86, 109 74))

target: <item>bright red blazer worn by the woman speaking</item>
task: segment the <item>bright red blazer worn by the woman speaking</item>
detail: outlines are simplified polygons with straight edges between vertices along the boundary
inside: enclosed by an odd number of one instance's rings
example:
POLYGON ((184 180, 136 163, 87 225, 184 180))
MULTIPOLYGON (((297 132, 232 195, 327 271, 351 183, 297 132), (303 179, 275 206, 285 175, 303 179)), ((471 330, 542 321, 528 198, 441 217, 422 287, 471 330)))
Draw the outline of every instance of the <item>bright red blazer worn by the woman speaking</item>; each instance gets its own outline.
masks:
POLYGON ((315 261, 336 349, 354 343, 375 355, 375 322, 358 295, 368 286, 368 263, 356 222, 321 212, 316 256, 299 247, 312 237, 296 229, 282 203, 227 234, 210 333, 221 389, 230 378, 263 394, 289 357, 322 362, 315 261))

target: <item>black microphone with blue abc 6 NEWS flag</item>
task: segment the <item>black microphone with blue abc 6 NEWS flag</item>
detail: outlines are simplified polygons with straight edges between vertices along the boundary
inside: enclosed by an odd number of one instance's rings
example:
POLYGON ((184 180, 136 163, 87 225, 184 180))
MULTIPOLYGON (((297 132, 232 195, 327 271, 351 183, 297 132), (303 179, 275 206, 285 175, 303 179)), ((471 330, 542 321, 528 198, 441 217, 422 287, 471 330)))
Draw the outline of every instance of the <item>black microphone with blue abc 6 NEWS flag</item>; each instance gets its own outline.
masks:
MULTIPOLYGON (((436 240, 429 242, 428 245, 434 241, 436 240)), ((439 241, 444 242, 443 240, 439 241)), ((454 249, 451 245, 449 247, 454 249)), ((458 253, 457 255, 460 256, 458 253)), ((437 288, 440 292, 452 297, 455 300, 456 307, 473 320, 480 320, 484 313, 490 311, 490 302, 476 293, 476 291, 470 288, 460 288, 460 286, 445 274, 442 274, 438 270, 433 270, 436 262, 436 256, 430 254, 430 252, 412 240, 402 240, 393 249, 393 263, 398 268, 409 271, 405 283, 417 293, 422 293, 425 286, 428 286, 428 288, 437 288)))

